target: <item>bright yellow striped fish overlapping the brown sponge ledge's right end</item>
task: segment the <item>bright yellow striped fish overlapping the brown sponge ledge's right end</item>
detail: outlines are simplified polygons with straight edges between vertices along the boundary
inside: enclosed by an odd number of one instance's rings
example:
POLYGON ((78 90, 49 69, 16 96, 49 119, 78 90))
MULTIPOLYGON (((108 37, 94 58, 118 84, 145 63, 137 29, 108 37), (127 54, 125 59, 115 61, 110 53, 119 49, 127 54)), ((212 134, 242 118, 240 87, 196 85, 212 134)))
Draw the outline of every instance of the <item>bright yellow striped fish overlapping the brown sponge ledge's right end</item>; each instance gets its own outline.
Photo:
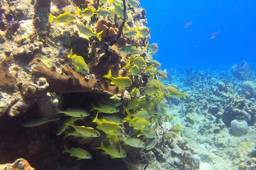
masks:
POLYGON ((119 88, 123 87, 130 87, 132 85, 132 80, 125 76, 125 77, 112 77, 111 70, 109 69, 108 74, 103 75, 104 78, 110 79, 112 82, 110 84, 117 85, 119 88))

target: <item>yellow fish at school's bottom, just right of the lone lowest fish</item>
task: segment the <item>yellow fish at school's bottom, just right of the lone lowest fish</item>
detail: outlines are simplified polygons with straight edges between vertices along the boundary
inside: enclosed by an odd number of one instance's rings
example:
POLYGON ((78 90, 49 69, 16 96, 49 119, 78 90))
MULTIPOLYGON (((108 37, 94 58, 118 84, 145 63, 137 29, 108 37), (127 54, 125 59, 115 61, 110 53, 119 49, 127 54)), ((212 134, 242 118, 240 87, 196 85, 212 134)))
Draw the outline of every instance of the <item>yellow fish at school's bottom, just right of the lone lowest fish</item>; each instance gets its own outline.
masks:
POLYGON ((103 142, 101 141, 101 145, 98 148, 95 149, 102 149, 104 154, 108 154, 111 156, 111 158, 124 158, 126 157, 126 152, 124 152, 124 149, 121 148, 121 153, 117 151, 116 148, 113 148, 113 146, 109 145, 107 147, 104 147, 103 142))

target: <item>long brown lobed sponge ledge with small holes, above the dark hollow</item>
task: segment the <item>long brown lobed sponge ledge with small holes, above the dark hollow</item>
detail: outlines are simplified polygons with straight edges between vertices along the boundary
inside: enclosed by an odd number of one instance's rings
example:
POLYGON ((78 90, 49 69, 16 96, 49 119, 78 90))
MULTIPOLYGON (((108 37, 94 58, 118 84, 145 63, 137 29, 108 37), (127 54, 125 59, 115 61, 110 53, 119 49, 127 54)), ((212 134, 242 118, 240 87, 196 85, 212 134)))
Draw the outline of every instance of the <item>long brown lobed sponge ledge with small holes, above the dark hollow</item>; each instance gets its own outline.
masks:
POLYGON ((49 83, 49 88, 55 92, 74 93, 97 90, 111 95, 122 95, 124 93, 124 90, 119 90, 117 86, 106 85, 103 80, 91 79, 87 76, 83 77, 78 72, 73 71, 69 66, 63 68, 65 75, 59 74, 55 67, 47 67, 41 62, 38 56, 28 66, 33 67, 33 72, 38 77, 45 77, 47 83, 49 83))

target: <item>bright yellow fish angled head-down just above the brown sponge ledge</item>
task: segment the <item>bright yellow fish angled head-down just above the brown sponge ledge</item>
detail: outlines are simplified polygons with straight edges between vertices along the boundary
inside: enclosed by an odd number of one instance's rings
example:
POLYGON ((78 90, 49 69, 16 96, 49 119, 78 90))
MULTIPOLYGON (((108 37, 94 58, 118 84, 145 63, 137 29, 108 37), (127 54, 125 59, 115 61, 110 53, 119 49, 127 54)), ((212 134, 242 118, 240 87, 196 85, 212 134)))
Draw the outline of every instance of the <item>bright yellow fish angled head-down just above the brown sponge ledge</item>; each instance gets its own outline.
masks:
POLYGON ((78 56, 76 54, 72 55, 72 48, 67 57, 72 59, 72 65, 75 67, 75 71, 81 72, 85 75, 90 74, 89 68, 85 63, 85 60, 83 59, 83 57, 78 56))

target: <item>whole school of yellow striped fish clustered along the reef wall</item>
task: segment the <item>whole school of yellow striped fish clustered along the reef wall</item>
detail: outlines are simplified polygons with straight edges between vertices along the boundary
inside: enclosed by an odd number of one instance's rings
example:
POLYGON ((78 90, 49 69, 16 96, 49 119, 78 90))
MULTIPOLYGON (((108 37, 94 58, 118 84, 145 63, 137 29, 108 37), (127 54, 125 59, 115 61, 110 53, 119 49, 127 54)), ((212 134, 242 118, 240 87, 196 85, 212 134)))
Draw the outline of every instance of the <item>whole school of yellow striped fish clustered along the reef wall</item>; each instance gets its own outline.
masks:
MULTIPOLYGON (((69 11, 59 14, 58 17, 54 17, 51 13, 49 15, 49 22, 57 21, 57 24, 63 23, 68 25, 70 22, 75 21, 78 15, 82 14, 83 17, 91 17, 96 14, 97 17, 103 17, 110 19, 117 14, 118 18, 122 21, 124 17, 124 6, 121 0, 99 0, 99 8, 85 8, 80 10, 77 7, 77 12, 71 14, 69 11), (104 3, 108 3, 109 8, 103 8, 104 3)), ((132 21, 132 10, 134 8, 140 8, 139 2, 137 0, 127 0, 127 22, 132 21)), ((93 29, 86 26, 83 22, 77 21, 77 29, 79 34, 85 35, 88 38, 95 36, 99 41, 101 41, 101 32, 96 33, 93 29)), ((135 40, 144 39, 150 33, 148 27, 135 25, 134 27, 129 27, 127 24, 124 26, 123 36, 129 38, 134 37, 135 40)), ((166 85, 159 80, 167 79, 166 69, 164 71, 158 70, 161 64, 153 60, 153 55, 158 52, 157 43, 152 43, 151 45, 147 42, 145 47, 135 47, 132 45, 126 45, 119 49, 121 53, 126 54, 127 65, 122 69, 127 69, 131 76, 142 75, 147 76, 147 83, 144 87, 139 85, 134 85, 134 88, 130 89, 131 100, 126 104, 91 104, 90 111, 84 109, 66 109, 60 110, 56 108, 56 114, 64 114, 68 118, 60 123, 56 135, 61 135, 64 133, 64 139, 68 136, 73 136, 74 138, 98 138, 101 136, 100 132, 106 134, 106 141, 108 141, 109 146, 104 146, 103 141, 99 144, 96 149, 101 149, 104 154, 108 154, 111 158, 123 158, 126 157, 126 152, 122 149, 123 145, 129 145, 135 148, 141 148, 140 152, 144 149, 149 150, 155 147, 158 141, 157 128, 161 127, 163 120, 169 121, 172 117, 166 113, 166 102, 170 96, 183 96, 186 99, 186 92, 181 93, 181 90, 174 87, 166 87, 166 85), (143 57, 143 53, 144 55, 143 57), (118 116, 122 112, 123 116, 118 116), (96 115, 92 117, 91 115, 96 115), (86 118, 90 117, 91 122, 85 122, 86 118), (165 119, 164 119, 165 118, 165 119), (77 121, 80 124, 91 125, 91 123, 96 123, 97 127, 94 129, 90 126, 78 126, 77 121), (135 135, 127 135, 126 129, 124 128, 124 123, 128 123, 130 127, 137 130, 135 135)), ((72 49, 67 55, 67 58, 72 60, 72 65, 74 70, 82 74, 90 74, 90 69, 85 63, 83 56, 77 56, 73 54, 72 49)), ((102 79, 111 80, 111 85, 117 85, 119 88, 128 88, 133 85, 132 80, 129 76, 119 76, 113 77, 111 70, 109 69, 108 74, 103 75, 102 79)), ((88 120, 87 118, 87 120, 88 120)), ((51 121, 59 121, 59 119, 41 119, 33 120, 31 122, 25 123, 25 127, 35 127, 42 125, 51 121)), ((174 126, 174 133, 179 133, 181 131, 180 126, 177 124, 174 126)), ((171 141, 172 133, 166 133, 163 138, 171 141)), ((64 146, 64 151, 68 152, 70 156, 77 157, 80 159, 91 159, 91 154, 82 148, 71 148, 70 150, 64 146)))

